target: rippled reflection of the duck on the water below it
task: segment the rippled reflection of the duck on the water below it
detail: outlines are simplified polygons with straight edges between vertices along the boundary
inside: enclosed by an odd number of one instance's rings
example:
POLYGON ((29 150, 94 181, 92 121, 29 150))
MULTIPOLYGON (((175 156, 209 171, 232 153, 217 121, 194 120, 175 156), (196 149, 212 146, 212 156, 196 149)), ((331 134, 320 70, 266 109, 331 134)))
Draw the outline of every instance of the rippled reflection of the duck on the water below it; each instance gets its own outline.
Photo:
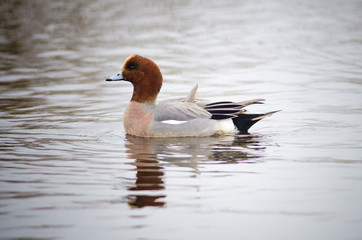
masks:
POLYGON ((136 180, 128 187, 131 207, 165 206, 163 166, 179 166, 199 173, 205 163, 255 162, 265 148, 257 135, 210 138, 139 138, 126 136, 126 152, 136 167, 136 180))

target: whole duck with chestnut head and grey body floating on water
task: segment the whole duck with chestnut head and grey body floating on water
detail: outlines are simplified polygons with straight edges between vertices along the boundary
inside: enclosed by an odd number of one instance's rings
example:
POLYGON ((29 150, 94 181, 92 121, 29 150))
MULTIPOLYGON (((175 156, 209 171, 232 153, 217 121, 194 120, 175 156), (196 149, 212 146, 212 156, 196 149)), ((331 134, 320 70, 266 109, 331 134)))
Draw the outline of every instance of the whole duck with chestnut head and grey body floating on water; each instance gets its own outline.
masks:
POLYGON ((209 137, 248 133, 256 122, 278 111, 248 113, 246 106, 265 99, 241 102, 196 98, 198 85, 186 97, 156 103, 163 77, 157 64, 137 54, 130 55, 120 73, 106 81, 126 81, 133 85, 123 125, 125 132, 137 137, 209 137))

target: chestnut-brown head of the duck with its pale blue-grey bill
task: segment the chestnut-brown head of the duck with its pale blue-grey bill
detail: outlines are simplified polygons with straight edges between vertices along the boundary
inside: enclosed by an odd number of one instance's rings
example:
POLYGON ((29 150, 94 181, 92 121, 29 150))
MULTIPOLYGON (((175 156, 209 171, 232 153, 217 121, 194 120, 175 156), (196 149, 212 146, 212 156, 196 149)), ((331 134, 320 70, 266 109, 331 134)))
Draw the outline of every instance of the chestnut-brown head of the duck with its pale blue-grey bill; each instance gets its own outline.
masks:
POLYGON ((128 81, 133 85, 131 101, 154 102, 162 86, 162 74, 151 59, 133 54, 123 63, 122 72, 106 81, 128 81))

